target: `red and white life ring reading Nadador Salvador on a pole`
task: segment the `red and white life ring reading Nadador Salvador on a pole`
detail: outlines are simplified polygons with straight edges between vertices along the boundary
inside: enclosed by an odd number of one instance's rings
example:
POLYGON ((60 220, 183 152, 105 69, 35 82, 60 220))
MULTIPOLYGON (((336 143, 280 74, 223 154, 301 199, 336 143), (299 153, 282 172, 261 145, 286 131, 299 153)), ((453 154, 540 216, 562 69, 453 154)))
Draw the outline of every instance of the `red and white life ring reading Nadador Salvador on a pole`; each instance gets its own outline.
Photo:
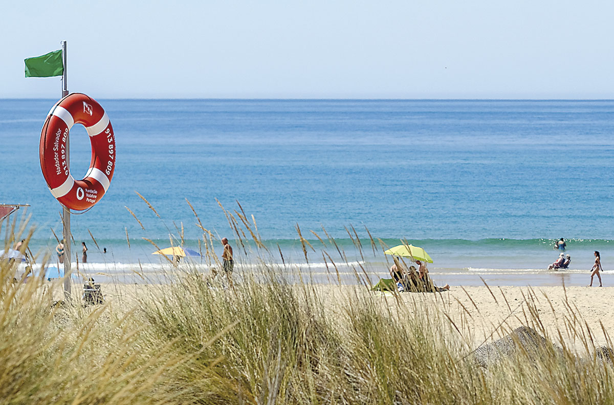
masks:
POLYGON ((107 113, 85 94, 64 97, 47 115, 39 154, 53 197, 71 210, 87 210, 103 198, 115 170, 115 136, 107 113), (75 180, 66 164, 66 141, 73 124, 82 124, 90 135, 90 170, 83 180, 75 180))

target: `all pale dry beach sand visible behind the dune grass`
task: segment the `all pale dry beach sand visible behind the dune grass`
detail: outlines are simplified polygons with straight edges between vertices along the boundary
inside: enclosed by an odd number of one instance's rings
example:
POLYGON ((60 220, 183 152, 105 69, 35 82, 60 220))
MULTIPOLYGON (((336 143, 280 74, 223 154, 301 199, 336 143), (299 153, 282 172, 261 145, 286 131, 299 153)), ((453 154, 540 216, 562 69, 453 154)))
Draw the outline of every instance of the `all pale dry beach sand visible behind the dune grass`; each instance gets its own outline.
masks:
MULTIPOLYGON (((74 288, 80 293, 78 284, 74 288)), ((158 295, 168 288, 168 285, 160 284, 117 282, 102 285, 105 300, 122 311, 138 307, 150 294, 158 295)), ((411 316, 415 311, 429 311, 429 314, 440 311, 449 316, 455 330, 458 328, 462 339, 473 347, 498 339, 521 325, 538 331, 543 327, 554 343, 560 344, 562 341, 577 352, 586 352, 581 343, 582 333, 589 330, 595 346, 608 344, 606 333, 614 333, 614 311, 610 311, 608 306, 614 287, 453 286, 449 292, 443 293, 395 295, 370 291, 363 286, 319 284, 314 286, 314 290, 333 314, 344 311, 352 296, 373 297, 376 305, 387 307, 400 319, 411 316), (538 314, 541 325, 535 322, 531 311, 538 314)), ((228 292, 231 293, 230 290, 228 292)), ((593 347, 590 347, 589 352, 592 351, 593 347)))

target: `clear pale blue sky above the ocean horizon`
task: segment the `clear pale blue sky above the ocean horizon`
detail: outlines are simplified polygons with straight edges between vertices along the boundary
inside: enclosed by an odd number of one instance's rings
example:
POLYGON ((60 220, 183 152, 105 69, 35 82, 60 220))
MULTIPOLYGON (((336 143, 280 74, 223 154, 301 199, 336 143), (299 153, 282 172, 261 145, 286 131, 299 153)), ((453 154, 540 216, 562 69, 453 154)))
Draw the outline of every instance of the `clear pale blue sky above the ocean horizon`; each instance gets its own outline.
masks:
POLYGON ((7 1, 0 97, 614 98, 608 1, 7 1))

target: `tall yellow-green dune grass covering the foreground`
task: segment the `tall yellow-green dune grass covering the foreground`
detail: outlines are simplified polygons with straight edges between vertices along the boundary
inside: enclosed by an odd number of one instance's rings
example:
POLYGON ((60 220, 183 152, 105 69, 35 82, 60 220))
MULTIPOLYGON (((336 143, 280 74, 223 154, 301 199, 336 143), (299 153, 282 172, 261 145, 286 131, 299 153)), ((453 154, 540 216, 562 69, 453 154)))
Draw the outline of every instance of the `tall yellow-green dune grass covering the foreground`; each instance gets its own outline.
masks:
MULTIPOLYGON (((255 221, 227 215, 262 249, 255 221)), ((6 247, 29 239, 17 228, 6 247)), ((426 305, 374 293, 360 269, 357 286, 290 283, 266 251, 254 254, 259 267, 232 284, 190 268, 133 307, 58 305, 61 284, 15 282, 14 263, 0 261, 0 404, 614 403, 612 363, 594 354, 573 305, 549 336, 528 297, 525 323, 547 344, 483 368, 470 320, 455 323, 462 314, 441 305, 444 295, 426 305), (564 344, 570 335, 580 356, 564 344)))

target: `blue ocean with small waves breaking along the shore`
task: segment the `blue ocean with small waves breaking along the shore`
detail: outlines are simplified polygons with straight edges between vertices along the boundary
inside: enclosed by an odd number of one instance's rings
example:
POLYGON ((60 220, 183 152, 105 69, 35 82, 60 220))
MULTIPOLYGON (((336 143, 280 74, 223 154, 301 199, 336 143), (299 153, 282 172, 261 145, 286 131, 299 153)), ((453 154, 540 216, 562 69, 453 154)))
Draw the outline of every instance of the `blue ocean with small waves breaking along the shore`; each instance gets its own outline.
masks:
MULTIPOLYGON (((143 238, 166 247, 183 229, 185 246, 198 251, 203 232, 186 200, 206 229, 236 246, 238 271, 259 259, 240 249, 218 201, 254 215, 266 260, 316 281, 331 267, 313 232, 332 260, 350 263, 340 265, 347 282, 354 270, 387 275, 379 240, 422 246, 440 284, 588 284, 594 250, 606 274, 614 269, 614 100, 98 101, 114 127, 117 166, 101 202, 72 216, 72 251, 85 241, 90 263, 80 266, 101 277, 157 272, 160 256, 143 238), (297 226, 313 246, 309 265, 297 226), (561 237, 570 270, 546 271, 561 237)), ((31 250, 41 255, 55 247, 51 230, 61 234, 38 154, 55 102, 0 100, 0 203, 31 205, 31 250)), ((77 178, 90 145, 79 125, 70 140, 77 178)))

